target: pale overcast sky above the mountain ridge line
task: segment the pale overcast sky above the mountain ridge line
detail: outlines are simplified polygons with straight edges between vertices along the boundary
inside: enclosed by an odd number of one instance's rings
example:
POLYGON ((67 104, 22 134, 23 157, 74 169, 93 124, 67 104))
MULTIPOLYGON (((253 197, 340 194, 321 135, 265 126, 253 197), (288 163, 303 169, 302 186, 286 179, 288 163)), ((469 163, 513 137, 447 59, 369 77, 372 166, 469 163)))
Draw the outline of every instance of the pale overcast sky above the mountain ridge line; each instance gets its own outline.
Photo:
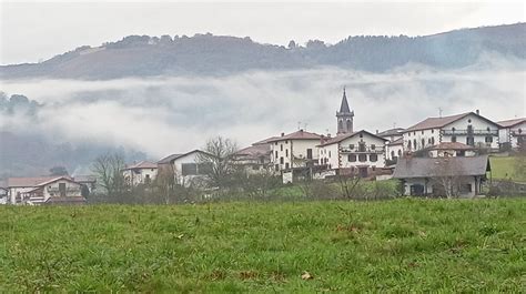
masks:
POLYGON ((525 21, 515 2, 14 2, 0 4, 0 63, 38 62, 77 47, 130 34, 212 32, 264 43, 335 43, 356 34, 423 36, 525 21))

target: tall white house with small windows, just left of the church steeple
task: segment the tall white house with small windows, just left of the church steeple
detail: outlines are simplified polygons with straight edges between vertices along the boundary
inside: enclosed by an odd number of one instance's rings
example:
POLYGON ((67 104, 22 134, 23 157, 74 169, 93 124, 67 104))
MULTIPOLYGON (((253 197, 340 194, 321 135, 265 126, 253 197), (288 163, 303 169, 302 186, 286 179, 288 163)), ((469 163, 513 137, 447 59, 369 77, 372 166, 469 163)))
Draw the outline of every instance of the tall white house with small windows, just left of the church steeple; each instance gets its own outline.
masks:
POLYGON ((321 135, 303 130, 269 140, 274 171, 314 165, 321 140, 321 135))

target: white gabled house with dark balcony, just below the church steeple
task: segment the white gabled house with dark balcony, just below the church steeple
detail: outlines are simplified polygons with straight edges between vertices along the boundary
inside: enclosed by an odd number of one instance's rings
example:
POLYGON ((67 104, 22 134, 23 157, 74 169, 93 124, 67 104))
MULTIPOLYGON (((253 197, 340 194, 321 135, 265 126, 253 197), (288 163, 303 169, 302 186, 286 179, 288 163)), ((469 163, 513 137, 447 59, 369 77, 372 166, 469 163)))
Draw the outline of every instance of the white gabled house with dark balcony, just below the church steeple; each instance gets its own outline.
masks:
POLYGON ((364 130, 337 135, 318 145, 320 164, 367 178, 385 166, 385 142, 386 139, 364 130))

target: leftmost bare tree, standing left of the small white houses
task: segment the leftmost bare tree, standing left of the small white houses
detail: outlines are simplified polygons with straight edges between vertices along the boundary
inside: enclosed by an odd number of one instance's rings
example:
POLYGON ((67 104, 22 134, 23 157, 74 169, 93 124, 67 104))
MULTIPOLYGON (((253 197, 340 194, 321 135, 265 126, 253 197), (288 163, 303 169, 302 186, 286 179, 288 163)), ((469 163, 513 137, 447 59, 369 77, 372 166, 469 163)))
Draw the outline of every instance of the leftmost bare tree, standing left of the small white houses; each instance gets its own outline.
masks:
POLYGON ((127 185, 122 175, 124 168, 124 158, 119 153, 107 153, 95 159, 92 171, 108 196, 120 196, 125 192, 127 185))

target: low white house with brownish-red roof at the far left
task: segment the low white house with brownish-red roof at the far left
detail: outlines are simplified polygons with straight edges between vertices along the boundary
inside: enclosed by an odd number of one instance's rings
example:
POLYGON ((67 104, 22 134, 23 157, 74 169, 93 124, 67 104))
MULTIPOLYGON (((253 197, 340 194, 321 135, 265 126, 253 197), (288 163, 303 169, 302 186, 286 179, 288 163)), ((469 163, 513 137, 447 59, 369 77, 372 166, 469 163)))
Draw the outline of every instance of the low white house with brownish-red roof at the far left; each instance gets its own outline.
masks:
POLYGON ((69 176, 9 178, 11 204, 83 203, 81 184, 69 176))

